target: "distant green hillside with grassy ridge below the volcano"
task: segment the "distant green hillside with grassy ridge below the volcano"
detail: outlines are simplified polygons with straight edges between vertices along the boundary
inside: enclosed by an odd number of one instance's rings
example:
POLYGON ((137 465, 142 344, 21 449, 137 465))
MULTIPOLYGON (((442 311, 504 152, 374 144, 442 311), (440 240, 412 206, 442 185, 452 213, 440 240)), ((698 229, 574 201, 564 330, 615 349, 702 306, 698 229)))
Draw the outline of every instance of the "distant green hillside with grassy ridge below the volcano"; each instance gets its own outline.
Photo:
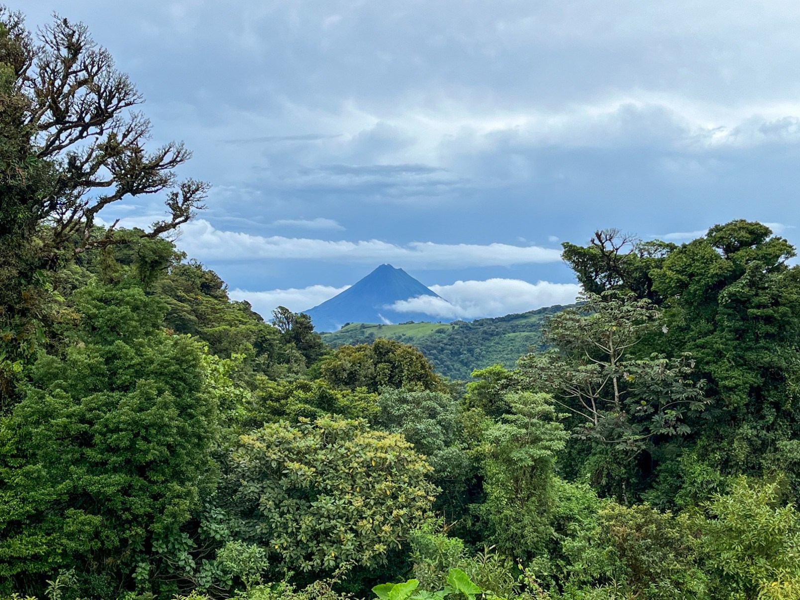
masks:
POLYGON ((396 339, 416 346, 439 373, 468 379, 474 369, 502 363, 513 367, 531 346, 542 347, 542 324, 567 308, 548 306, 522 314, 452 323, 417 322, 406 325, 352 323, 332 334, 322 334, 330 346, 362 344, 375 338, 396 339))

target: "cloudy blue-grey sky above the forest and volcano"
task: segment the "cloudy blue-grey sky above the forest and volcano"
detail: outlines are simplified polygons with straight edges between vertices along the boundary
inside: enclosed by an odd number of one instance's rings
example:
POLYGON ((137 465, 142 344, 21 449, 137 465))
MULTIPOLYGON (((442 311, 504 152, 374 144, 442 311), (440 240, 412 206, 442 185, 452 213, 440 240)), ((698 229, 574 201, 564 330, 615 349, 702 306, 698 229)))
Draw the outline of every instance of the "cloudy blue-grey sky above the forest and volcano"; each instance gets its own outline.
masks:
MULTIPOLYGON (((570 302, 560 243, 800 242, 800 3, 770 0, 25 0, 85 22, 153 144, 213 184, 178 246, 268 315, 376 266, 476 318, 570 302)), ((139 225, 158 198, 103 212, 139 225)), ((427 303, 426 303, 427 302, 427 303)))

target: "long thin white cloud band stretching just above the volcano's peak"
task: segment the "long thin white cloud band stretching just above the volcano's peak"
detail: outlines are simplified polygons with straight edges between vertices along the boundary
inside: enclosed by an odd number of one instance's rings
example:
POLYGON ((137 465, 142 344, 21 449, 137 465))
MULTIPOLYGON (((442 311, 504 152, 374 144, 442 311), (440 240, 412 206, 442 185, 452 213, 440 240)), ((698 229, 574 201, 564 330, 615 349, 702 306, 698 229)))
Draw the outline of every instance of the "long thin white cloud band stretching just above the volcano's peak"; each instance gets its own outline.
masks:
POLYGON ((561 261, 561 250, 542 246, 436 242, 410 242, 405 246, 398 246, 374 239, 349 242, 277 235, 264 237, 218 230, 203 219, 190 221, 182 226, 178 247, 200 260, 305 258, 336 262, 393 262, 398 266, 428 269, 561 261))

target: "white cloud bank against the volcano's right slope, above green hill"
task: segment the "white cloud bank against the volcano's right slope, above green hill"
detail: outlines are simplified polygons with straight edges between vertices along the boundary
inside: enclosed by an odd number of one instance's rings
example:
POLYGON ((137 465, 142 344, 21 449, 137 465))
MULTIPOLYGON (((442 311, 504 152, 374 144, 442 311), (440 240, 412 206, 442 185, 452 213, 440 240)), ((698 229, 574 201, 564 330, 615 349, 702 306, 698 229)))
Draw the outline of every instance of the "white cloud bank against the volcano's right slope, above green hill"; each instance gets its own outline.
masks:
POLYGON ((577 283, 529 283, 521 279, 493 278, 486 281, 458 281, 449 286, 430 286, 439 294, 395 302, 391 308, 402 313, 424 313, 432 317, 484 318, 570 304, 581 291, 577 283))

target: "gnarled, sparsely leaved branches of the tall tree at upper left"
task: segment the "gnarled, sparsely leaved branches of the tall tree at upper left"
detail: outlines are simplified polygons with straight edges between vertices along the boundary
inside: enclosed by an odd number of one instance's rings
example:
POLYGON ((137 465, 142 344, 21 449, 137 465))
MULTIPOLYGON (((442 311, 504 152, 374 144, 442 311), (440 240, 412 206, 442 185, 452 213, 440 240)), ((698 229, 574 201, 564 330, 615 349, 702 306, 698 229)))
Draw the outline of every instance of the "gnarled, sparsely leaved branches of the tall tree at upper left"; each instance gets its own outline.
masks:
POLYGON ((55 171, 47 189, 13 206, 4 202, 0 235, 32 235, 47 222, 48 251, 67 244, 81 252, 111 241, 113 227, 94 238, 103 208, 164 190, 168 218, 142 234, 154 238, 188 221, 207 190, 203 182, 176 180, 174 169, 190 152, 176 142, 147 150, 150 122, 134 110, 142 96, 86 26, 56 18, 34 40, 21 14, 3 6, 0 22, 4 102, 19 107, 20 147, 30 153, 23 162, 55 171))

